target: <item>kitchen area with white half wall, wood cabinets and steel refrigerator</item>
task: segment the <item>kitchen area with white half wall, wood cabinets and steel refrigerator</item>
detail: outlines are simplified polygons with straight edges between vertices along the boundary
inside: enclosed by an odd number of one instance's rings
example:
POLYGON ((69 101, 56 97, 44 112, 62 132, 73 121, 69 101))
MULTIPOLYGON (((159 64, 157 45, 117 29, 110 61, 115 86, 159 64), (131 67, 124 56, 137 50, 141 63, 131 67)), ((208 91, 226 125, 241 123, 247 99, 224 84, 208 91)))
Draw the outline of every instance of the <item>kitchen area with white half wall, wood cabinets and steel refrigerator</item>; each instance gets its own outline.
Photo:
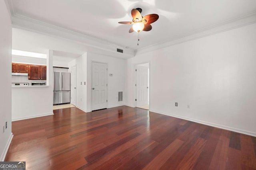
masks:
POLYGON ((75 107, 70 104, 68 67, 53 66, 52 50, 19 52, 12 52, 12 121, 53 115, 60 106, 75 107))

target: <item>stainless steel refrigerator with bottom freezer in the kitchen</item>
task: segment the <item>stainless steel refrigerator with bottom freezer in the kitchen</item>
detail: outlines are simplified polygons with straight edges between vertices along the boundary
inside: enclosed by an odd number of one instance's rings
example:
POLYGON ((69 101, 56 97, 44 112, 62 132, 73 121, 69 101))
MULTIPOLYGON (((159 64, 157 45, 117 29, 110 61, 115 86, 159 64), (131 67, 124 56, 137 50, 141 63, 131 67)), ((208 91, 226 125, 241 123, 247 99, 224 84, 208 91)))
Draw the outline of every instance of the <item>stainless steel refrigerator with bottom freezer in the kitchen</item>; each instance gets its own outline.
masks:
POLYGON ((53 105, 70 103, 70 72, 54 72, 53 105))

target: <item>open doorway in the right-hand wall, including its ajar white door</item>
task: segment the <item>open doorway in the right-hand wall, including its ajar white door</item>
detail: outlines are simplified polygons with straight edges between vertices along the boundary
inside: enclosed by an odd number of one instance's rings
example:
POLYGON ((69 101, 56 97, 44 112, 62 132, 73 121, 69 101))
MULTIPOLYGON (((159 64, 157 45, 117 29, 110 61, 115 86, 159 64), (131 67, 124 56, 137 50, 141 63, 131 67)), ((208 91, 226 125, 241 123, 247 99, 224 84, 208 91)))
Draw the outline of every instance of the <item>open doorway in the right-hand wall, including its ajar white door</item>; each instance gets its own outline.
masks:
POLYGON ((135 65, 135 106, 150 109, 150 63, 135 65))

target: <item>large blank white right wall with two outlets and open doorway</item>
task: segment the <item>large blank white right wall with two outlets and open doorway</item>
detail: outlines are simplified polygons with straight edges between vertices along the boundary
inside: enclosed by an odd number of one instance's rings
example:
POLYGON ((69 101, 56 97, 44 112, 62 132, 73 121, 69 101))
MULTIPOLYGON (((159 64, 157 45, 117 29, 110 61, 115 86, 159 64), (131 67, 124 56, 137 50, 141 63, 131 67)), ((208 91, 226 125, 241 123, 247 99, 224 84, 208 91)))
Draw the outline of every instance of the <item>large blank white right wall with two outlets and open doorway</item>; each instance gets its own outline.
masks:
POLYGON ((247 25, 128 59, 126 104, 134 106, 134 64, 150 61, 151 111, 256 136, 255 30, 247 25))

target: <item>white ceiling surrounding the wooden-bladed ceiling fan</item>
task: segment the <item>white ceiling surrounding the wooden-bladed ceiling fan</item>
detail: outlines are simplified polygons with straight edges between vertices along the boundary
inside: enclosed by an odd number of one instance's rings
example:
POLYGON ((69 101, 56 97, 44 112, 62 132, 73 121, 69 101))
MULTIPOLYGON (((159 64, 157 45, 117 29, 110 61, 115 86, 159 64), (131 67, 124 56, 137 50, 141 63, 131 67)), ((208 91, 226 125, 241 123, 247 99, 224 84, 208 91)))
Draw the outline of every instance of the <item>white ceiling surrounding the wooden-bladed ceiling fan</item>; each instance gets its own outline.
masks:
POLYGON ((256 12, 256 0, 11 0, 18 16, 49 23, 133 50, 170 41, 256 12), (151 31, 128 33, 131 10, 158 14, 151 31))

